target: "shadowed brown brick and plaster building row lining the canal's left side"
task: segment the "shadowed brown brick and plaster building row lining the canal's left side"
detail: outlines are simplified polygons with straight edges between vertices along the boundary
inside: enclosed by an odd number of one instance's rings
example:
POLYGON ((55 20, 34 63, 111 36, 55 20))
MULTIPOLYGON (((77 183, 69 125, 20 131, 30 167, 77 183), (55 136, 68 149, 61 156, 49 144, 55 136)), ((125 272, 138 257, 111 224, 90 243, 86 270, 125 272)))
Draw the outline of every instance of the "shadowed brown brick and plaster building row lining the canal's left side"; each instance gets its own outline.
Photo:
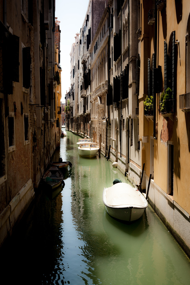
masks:
POLYGON ((60 137, 55 1, 2 2, 0 244, 34 198, 60 137))

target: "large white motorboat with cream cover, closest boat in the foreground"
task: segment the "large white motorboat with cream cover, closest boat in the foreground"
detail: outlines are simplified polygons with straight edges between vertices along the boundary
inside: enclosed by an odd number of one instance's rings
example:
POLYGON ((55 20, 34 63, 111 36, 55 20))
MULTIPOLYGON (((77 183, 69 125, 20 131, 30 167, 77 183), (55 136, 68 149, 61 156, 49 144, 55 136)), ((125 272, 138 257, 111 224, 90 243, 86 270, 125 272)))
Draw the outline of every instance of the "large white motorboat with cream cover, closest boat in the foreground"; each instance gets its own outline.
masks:
POLYGON ((103 203, 110 216, 128 222, 139 219, 148 207, 144 195, 128 183, 104 188, 103 203))

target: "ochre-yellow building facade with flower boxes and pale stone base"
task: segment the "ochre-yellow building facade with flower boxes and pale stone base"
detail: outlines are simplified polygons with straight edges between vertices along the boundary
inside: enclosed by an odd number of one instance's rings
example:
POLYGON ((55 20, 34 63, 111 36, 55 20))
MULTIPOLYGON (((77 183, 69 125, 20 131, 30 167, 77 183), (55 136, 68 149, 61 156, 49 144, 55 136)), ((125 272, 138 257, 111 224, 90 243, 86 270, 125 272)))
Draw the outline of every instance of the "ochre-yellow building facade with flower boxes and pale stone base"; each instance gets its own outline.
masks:
POLYGON ((149 202, 190 256, 189 1, 140 1, 139 136, 149 202))

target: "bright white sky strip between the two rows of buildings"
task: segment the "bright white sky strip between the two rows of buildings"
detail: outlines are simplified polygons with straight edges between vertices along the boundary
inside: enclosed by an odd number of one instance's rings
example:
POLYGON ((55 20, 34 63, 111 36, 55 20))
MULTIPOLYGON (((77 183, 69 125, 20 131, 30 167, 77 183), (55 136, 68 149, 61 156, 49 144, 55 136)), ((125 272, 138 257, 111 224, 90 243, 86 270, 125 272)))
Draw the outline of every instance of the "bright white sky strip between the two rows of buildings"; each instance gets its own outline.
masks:
POLYGON ((89 0, 56 0, 57 20, 60 21, 60 65, 61 65, 61 101, 65 101, 66 90, 69 91, 70 81, 70 51, 75 42, 76 33, 80 33, 85 20, 89 0))

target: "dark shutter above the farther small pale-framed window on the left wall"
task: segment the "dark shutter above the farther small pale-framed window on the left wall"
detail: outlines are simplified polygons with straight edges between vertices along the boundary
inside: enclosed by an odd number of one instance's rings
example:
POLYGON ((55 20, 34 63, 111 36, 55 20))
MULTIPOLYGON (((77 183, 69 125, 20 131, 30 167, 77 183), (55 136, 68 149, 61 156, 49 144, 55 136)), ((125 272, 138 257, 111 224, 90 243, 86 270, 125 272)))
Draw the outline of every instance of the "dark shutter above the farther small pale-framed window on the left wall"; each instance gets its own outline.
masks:
POLYGON ((30 88, 30 47, 23 48, 23 87, 30 88))

